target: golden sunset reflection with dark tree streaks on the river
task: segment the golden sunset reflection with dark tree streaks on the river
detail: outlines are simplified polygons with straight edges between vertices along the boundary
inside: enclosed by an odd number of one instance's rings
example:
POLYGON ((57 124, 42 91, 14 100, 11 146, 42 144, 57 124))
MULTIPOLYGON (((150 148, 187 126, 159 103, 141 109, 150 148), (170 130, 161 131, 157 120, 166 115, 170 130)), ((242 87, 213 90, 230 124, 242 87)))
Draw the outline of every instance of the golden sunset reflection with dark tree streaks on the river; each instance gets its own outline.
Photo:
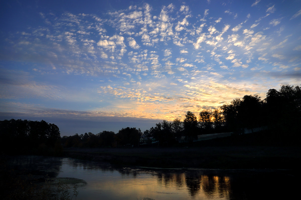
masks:
POLYGON ((135 171, 121 177, 103 177, 93 189, 108 193, 107 196, 113 194, 129 199, 230 199, 230 178, 227 176, 203 175, 202 171, 135 171))

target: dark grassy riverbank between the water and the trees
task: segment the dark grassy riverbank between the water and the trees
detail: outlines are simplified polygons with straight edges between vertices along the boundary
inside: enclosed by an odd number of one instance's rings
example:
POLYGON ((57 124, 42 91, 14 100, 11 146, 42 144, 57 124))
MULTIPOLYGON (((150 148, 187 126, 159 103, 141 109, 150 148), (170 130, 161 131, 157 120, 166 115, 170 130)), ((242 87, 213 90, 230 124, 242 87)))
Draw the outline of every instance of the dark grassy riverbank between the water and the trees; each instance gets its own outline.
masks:
POLYGON ((297 169, 298 146, 66 148, 64 157, 120 166, 198 169, 297 169))

